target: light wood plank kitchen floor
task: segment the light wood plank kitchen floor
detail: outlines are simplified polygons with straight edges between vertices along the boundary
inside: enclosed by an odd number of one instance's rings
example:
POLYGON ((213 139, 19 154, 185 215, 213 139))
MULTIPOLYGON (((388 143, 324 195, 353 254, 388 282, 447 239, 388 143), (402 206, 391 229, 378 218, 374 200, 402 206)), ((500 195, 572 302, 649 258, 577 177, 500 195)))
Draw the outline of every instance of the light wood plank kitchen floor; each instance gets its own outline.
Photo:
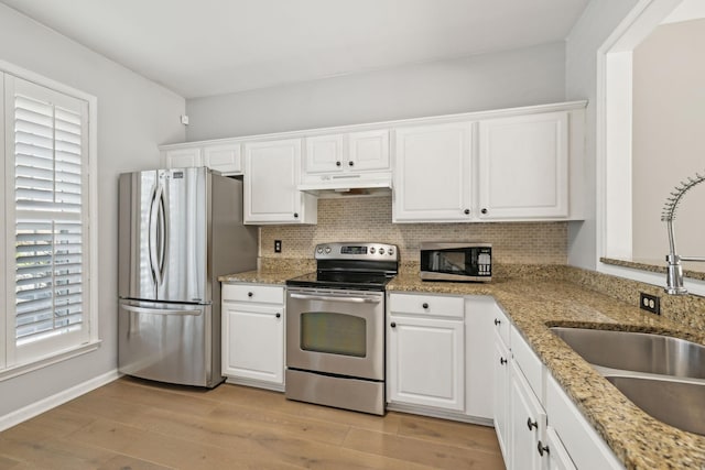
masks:
POLYGON ((0 433, 0 469, 503 469, 492 428, 123 378, 0 433))

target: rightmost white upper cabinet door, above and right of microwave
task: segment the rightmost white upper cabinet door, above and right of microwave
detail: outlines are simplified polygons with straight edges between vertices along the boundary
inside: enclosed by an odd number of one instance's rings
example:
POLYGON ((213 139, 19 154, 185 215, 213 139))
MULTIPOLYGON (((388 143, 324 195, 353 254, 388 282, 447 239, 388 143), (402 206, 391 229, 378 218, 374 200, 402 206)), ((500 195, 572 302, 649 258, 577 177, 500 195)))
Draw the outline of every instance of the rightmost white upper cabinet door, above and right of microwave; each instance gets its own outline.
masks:
POLYGON ((567 217, 567 112, 480 121, 478 179, 481 219, 567 217))

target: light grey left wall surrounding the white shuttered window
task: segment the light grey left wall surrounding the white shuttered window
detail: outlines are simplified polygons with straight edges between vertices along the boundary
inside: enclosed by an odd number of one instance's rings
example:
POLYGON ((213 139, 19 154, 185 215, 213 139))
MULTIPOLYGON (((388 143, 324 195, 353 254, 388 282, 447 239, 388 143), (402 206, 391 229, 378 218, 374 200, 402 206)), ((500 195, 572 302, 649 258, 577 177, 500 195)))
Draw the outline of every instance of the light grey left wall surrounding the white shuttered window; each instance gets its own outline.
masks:
POLYGON ((182 97, 0 4, 0 59, 98 98, 101 347, 0 382, 0 417, 117 368, 118 174, 156 167, 156 145, 185 139, 182 97))

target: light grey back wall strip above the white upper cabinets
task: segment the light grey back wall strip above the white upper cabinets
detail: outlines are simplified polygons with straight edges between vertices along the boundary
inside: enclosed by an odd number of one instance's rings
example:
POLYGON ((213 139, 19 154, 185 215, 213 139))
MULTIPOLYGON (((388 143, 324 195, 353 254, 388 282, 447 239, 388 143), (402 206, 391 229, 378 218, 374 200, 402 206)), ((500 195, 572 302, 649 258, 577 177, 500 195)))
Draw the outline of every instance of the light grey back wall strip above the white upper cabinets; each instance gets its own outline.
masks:
POLYGON ((189 99, 188 141, 564 100, 564 44, 189 99))

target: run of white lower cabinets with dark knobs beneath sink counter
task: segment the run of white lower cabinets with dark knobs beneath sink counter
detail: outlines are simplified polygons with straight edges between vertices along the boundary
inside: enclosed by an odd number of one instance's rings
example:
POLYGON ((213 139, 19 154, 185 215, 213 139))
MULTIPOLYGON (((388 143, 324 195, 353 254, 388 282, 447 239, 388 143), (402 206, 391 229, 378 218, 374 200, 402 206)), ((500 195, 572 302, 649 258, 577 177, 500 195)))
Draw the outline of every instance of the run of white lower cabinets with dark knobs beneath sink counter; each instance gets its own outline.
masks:
POLYGON ((495 429, 506 467, 623 468, 513 326, 507 341, 505 321, 496 321, 495 429))

